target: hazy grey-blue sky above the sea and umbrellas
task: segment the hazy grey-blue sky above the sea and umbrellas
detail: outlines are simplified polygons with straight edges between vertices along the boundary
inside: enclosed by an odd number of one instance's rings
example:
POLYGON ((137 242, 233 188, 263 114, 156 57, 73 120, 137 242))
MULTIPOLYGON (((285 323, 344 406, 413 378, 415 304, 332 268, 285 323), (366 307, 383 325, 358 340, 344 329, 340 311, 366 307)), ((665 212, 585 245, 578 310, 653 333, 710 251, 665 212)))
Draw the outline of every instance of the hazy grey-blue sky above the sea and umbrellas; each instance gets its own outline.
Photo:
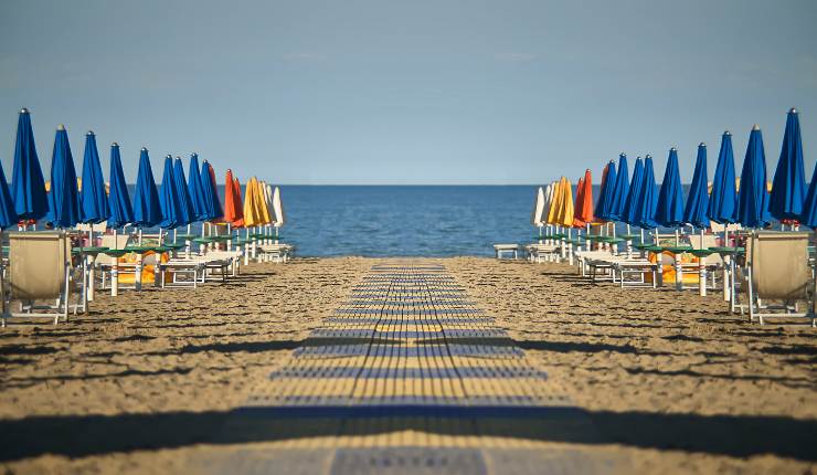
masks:
MULTIPOLYGON (((696 146, 736 166, 754 123, 773 169, 800 109, 817 137, 814 1, 0 2, 0 156, 32 110, 47 170, 57 124, 198 151, 276 183, 541 183, 625 151, 658 175, 696 146)), ((710 175, 711 177, 711 175, 710 175)), ((771 178, 770 178, 771 179, 771 178)))

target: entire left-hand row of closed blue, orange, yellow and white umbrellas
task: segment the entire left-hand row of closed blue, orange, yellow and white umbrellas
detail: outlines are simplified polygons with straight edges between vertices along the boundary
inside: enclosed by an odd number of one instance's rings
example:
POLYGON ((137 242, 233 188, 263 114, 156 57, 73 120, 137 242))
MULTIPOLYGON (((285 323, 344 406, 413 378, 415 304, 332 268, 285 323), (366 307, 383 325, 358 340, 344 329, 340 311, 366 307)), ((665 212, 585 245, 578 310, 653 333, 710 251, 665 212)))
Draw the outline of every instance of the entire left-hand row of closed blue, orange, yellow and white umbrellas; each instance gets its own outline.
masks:
POLYGON ((63 126, 56 130, 51 181, 46 183, 34 146, 31 117, 26 109, 22 109, 18 120, 10 189, 0 166, 0 229, 15 225, 19 221, 35 222, 42 219, 64 229, 77 223, 102 222, 113 228, 135 224, 176 229, 194 222, 219 220, 236 228, 283 225, 284 214, 277 187, 273 190, 269 184, 253 178, 247 183, 246 200, 242 203, 241 183, 227 170, 224 207, 216 190, 213 167, 206 160, 200 167, 195 154, 190 157, 187 177, 181 159, 168 155, 161 187, 157 188, 148 150, 142 148, 131 203, 119 146, 116 142, 110 146, 109 186, 106 188, 93 131, 86 135, 82 180, 78 183, 67 131, 63 126))

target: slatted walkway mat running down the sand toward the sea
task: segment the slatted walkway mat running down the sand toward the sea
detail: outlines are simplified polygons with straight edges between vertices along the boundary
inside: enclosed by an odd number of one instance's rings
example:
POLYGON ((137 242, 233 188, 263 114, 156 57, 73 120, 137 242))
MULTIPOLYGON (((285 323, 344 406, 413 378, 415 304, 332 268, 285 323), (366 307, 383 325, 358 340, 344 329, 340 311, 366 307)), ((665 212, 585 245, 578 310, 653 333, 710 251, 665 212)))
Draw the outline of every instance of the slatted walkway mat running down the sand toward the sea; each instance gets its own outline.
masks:
POLYGON ((203 461, 231 474, 622 472, 585 411, 554 390, 437 264, 384 261, 232 411, 203 461), (554 442, 555 441, 555 442, 554 442))

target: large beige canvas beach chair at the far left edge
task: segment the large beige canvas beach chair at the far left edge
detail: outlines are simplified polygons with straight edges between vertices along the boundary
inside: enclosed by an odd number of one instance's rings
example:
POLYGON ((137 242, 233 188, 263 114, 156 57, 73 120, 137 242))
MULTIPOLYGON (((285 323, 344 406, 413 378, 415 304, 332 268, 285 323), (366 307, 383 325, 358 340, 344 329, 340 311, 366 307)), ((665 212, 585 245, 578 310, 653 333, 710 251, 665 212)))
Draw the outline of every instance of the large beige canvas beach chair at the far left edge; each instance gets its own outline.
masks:
MULTIPOLYGON (((61 319, 67 321, 72 270, 71 240, 64 232, 9 233, 2 326, 10 318, 51 319, 54 325, 61 319), (12 302, 19 303, 19 312, 11 310, 12 302)), ((74 312, 78 305, 74 305, 74 312)))

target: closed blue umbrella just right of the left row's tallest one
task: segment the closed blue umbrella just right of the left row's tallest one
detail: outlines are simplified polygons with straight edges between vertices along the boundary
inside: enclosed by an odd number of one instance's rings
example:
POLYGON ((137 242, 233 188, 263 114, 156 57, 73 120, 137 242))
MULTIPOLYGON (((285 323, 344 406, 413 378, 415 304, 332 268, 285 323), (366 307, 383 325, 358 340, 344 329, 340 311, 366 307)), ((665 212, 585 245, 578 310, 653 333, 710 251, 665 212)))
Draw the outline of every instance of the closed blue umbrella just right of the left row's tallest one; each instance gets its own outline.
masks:
POLYGON ((79 222, 79 193, 76 189, 76 169, 71 155, 68 133, 60 125, 51 156, 51 192, 47 220, 56 228, 74 228, 79 222))

